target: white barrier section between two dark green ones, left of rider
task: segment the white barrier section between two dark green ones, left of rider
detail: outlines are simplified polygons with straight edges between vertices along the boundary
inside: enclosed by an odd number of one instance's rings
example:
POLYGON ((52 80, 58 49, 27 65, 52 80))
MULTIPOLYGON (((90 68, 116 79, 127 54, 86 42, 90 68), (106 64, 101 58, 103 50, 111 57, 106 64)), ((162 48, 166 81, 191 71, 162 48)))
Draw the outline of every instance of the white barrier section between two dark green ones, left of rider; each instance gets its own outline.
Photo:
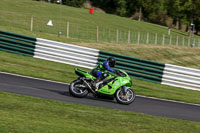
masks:
POLYGON ((34 58, 92 69, 99 50, 37 38, 34 58))

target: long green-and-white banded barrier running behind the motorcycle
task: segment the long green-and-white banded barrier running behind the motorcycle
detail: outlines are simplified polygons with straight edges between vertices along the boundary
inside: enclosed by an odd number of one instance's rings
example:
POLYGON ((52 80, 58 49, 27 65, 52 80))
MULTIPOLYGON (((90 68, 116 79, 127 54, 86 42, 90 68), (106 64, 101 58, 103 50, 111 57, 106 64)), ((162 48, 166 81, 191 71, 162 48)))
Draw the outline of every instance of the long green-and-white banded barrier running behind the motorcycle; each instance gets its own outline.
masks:
POLYGON ((117 59, 116 68, 125 70, 134 78, 200 91, 200 70, 197 69, 5 31, 0 31, 0 50, 88 69, 92 69, 98 61, 113 56, 117 59))

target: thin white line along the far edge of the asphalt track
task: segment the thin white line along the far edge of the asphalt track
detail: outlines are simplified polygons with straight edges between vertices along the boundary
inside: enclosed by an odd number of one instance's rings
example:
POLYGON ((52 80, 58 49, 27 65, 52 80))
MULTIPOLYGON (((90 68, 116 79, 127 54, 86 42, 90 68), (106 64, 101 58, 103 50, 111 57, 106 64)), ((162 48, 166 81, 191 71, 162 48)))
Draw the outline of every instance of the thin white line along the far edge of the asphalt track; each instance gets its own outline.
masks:
MULTIPOLYGON (((41 78, 34 78, 34 77, 23 76, 23 75, 18 75, 18 74, 12 74, 12 73, 7 73, 7 72, 0 72, 0 73, 7 74, 7 75, 14 75, 14 76, 18 76, 18 77, 29 78, 29 79, 37 79, 37 80, 47 81, 47 82, 52 82, 52 83, 69 85, 69 83, 63 83, 63 82, 58 82, 58 81, 53 81, 53 80, 47 80, 47 79, 41 79, 41 78)), ((174 100, 168 100, 168 99, 162 99, 162 98, 156 98, 156 97, 148 97, 148 96, 142 96, 142 95, 136 95, 136 96, 137 97, 143 97, 143 98, 149 98, 149 99, 155 99, 155 100, 161 100, 161 101, 167 101, 167 102, 174 102, 174 103, 194 105, 194 106, 199 106, 200 107, 200 104, 192 104, 192 103, 186 103, 186 102, 181 102, 181 101, 174 101, 174 100)))

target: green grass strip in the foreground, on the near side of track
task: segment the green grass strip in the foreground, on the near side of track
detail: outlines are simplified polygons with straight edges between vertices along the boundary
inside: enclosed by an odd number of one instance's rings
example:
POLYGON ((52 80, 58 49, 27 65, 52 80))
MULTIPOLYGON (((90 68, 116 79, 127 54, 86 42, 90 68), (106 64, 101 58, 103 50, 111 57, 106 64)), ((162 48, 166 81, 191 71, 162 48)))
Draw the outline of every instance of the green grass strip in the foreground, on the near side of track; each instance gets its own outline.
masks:
POLYGON ((0 133, 198 133, 200 130, 199 122, 5 92, 0 92, 0 114, 0 133))

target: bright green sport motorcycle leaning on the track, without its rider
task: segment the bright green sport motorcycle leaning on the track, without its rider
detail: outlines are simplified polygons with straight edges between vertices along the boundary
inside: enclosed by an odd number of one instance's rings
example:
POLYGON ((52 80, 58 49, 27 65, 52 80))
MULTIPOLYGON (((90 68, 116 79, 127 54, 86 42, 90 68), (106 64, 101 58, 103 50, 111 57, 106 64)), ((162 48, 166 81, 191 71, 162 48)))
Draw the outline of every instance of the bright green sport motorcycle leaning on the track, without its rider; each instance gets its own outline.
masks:
POLYGON ((92 93, 96 97, 115 98, 118 103, 126 105, 135 100, 135 92, 130 88, 131 78, 125 71, 117 70, 116 74, 106 71, 107 76, 98 83, 98 90, 94 90, 92 84, 96 77, 78 68, 75 68, 75 73, 79 77, 69 87, 69 92, 74 97, 83 98, 92 93))

